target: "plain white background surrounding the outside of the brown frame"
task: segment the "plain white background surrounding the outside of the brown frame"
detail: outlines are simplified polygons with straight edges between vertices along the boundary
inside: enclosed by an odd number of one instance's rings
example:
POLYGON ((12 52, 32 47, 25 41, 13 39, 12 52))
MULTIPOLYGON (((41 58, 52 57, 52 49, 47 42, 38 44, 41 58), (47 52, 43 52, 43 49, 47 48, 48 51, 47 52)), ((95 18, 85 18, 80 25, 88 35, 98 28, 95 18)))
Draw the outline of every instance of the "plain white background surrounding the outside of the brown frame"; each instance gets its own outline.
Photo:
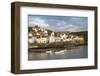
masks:
MULTIPOLYGON (((100 59, 98 61, 98 70, 81 70, 81 71, 65 71, 52 73, 36 73, 36 74, 21 74, 14 75, 10 73, 11 60, 11 15, 10 3, 13 1, 53 3, 53 4, 68 4, 68 5, 87 5, 98 6, 98 24, 100 24, 100 0, 1 0, 0 2, 0 76, 100 76, 100 59)), ((100 28, 100 26, 98 26, 100 28)), ((100 33, 100 30, 98 30, 100 33)), ((100 34, 98 36, 100 46, 100 34)), ((98 58, 100 58, 100 48, 98 48, 98 58)))

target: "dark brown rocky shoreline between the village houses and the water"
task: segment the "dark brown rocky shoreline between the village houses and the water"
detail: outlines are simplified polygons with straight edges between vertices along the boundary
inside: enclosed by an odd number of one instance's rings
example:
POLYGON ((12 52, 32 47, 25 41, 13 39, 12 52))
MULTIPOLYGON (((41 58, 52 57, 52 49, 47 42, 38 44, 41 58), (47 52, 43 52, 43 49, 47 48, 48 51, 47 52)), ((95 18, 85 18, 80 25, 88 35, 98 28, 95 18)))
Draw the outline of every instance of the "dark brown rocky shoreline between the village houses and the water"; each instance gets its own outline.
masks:
POLYGON ((56 43, 47 43, 47 44, 35 44, 30 45, 30 49, 47 49, 47 48, 72 48, 81 45, 87 45, 84 42, 56 42, 56 43))

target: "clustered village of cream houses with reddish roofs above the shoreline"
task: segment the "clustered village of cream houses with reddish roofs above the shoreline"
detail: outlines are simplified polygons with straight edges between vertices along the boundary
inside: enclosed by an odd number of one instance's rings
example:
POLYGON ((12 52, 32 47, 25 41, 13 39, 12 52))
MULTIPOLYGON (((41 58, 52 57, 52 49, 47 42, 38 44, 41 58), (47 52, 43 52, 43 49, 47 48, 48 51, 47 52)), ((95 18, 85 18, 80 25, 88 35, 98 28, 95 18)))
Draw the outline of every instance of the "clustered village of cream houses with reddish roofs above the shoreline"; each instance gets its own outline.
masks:
POLYGON ((51 32, 51 34, 49 35, 47 30, 38 26, 32 27, 32 31, 29 32, 29 44, 33 44, 35 42, 38 44, 46 44, 67 41, 83 42, 84 38, 79 36, 73 36, 69 32, 51 32))

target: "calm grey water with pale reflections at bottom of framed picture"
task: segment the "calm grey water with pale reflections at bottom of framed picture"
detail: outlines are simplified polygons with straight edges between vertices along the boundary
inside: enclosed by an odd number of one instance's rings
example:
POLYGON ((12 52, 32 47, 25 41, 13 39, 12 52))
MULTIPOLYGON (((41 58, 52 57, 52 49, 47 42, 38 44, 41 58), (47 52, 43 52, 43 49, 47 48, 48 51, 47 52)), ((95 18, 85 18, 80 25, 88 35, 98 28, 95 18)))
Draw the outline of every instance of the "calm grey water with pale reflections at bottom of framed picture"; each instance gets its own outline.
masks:
POLYGON ((87 46, 79 46, 71 49, 29 49, 28 52, 28 60, 74 59, 87 57, 87 46))

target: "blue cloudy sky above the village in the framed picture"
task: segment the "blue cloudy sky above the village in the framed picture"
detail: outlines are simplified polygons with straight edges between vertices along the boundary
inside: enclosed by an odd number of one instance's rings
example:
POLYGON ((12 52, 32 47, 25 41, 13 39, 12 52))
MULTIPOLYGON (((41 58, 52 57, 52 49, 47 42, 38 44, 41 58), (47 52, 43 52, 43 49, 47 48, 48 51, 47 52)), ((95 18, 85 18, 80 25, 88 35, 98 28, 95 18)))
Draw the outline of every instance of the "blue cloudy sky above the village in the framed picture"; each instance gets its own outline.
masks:
POLYGON ((88 30, 88 17, 29 15, 29 27, 38 25, 54 32, 79 32, 88 30))

